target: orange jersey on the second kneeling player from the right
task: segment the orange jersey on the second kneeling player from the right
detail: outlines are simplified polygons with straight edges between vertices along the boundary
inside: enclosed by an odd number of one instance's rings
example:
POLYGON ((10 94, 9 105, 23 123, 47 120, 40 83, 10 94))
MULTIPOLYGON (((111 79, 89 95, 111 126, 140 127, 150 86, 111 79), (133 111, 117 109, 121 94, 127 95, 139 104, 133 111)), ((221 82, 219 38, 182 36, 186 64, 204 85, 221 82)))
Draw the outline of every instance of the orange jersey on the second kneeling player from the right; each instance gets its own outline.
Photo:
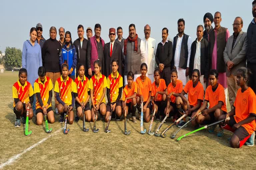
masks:
POLYGON ((223 105, 221 106, 221 110, 223 110, 224 112, 227 112, 224 87, 220 83, 218 84, 218 87, 215 91, 212 91, 212 86, 208 86, 206 88, 204 100, 209 102, 210 104, 209 109, 216 106, 218 102, 223 102, 223 105))

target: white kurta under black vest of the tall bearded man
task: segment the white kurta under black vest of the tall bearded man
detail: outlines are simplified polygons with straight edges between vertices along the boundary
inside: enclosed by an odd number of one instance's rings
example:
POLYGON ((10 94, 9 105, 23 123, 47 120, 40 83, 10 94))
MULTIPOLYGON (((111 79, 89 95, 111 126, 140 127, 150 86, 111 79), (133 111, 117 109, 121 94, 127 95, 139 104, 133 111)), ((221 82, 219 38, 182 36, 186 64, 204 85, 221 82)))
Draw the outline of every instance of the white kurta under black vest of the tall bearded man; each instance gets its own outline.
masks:
MULTIPOLYGON (((176 68, 179 67, 179 63, 180 63, 180 50, 181 50, 181 42, 183 39, 184 34, 182 35, 182 37, 179 37, 178 35, 178 39, 176 42, 176 48, 175 48, 175 55, 174 55, 174 65, 176 68)), ((190 59, 190 53, 191 53, 191 44, 192 44, 192 39, 189 36, 188 37, 188 61, 187 61, 187 67, 189 67, 189 59, 190 59)))

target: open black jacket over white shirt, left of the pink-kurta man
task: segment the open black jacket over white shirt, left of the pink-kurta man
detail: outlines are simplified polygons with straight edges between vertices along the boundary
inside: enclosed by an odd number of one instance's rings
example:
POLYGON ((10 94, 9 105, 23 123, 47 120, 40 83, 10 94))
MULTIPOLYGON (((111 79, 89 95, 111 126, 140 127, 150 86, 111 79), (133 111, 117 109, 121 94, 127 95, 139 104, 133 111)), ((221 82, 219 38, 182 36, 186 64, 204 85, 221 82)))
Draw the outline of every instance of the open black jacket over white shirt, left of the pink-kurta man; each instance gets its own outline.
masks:
MULTIPOLYGON (((197 40, 197 39, 196 39, 197 40)), ((196 40, 191 45, 191 53, 189 60, 189 77, 192 76, 192 71, 194 69, 194 59, 196 54, 196 40)), ((208 78, 209 74, 209 55, 208 55, 208 41, 204 38, 201 40, 201 50, 200 50, 200 74, 204 75, 204 78, 208 78)))

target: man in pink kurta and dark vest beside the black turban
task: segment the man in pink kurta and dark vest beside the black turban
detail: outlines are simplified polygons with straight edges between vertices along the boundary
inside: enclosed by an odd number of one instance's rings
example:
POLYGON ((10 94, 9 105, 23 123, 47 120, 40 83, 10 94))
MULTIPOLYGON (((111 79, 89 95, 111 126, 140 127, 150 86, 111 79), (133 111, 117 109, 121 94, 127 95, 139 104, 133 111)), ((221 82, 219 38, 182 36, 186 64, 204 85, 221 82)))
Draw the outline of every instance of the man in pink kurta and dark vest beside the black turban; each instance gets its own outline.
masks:
POLYGON ((210 69, 216 69, 219 73, 219 83, 224 87, 226 103, 228 97, 227 77, 226 77, 226 63, 224 61, 223 52, 229 38, 229 31, 227 28, 221 27, 221 13, 215 12, 214 25, 215 28, 208 35, 208 46, 210 49, 209 64, 210 69))

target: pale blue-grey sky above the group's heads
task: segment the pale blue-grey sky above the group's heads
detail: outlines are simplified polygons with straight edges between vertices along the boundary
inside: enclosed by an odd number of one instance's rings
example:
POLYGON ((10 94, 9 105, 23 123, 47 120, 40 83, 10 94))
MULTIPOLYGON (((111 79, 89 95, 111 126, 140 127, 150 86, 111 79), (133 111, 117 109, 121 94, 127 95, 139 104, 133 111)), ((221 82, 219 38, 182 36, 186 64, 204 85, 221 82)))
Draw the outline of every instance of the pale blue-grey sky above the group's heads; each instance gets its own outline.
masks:
MULTIPOLYGON (((144 37, 144 26, 151 27, 151 37, 157 43, 162 40, 161 33, 164 27, 169 30, 168 40, 178 34, 177 21, 185 20, 185 34, 196 39, 196 28, 203 25, 203 16, 210 12, 221 12, 221 26, 233 33, 232 24, 235 17, 243 19, 243 31, 247 31, 252 17, 252 0, 136 0, 136 1, 103 1, 103 0, 4 0, 0 10, 0 50, 5 51, 7 46, 22 49, 23 42, 30 39, 29 31, 37 23, 43 26, 43 36, 49 39, 49 29, 55 26, 64 27, 70 31, 72 41, 78 38, 77 26, 82 24, 94 29, 94 25, 101 24, 101 38, 109 42, 109 28, 123 28, 123 37, 128 37, 128 27, 135 24, 139 38, 144 37), (214 3, 213 3, 214 2, 214 3)), ((214 23, 212 24, 214 27, 214 23)), ((93 33, 94 35, 94 33, 93 33)), ((84 35, 86 38, 86 34, 84 35)), ((117 38, 117 37, 116 37, 117 38)), ((57 36, 59 39, 59 36, 57 36)))

